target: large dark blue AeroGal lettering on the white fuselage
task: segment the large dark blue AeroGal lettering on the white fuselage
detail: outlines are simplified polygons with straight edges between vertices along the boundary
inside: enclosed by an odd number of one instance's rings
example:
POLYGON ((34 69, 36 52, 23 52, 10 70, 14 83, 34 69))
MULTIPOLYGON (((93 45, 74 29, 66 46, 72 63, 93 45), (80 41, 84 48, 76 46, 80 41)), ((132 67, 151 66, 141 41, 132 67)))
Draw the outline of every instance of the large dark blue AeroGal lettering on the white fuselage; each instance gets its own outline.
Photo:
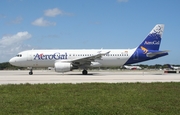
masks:
POLYGON ((59 52, 54 54, 36 54, 34 55, 34 60, 60 60, 67 59, 67 53, 60 54, 59 52))

